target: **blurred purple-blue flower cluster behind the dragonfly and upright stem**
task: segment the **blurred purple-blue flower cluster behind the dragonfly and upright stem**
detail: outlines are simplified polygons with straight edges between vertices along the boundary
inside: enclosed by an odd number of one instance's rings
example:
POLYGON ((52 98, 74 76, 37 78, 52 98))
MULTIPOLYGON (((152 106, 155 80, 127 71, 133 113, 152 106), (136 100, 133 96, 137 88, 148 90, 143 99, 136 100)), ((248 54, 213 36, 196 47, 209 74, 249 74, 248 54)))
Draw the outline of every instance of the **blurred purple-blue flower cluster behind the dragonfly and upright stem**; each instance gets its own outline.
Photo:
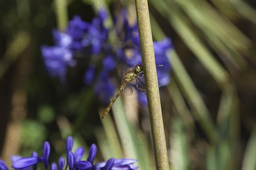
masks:
MULTIPOLYGON (((113 43, 109 40, 110 31, 105 27, 108 17, 108 13, 104 10, 100 10, 91 23, 75 16, 70 20, 65 32, 53 31, 54 37, 60 38, 54 46, 44 45, 41 48, 47 71, 52 77, 59 77, 62 82, 66 80, 68 67, 75 66, 77 59, 81 57, 87 58, 89 62, 84 73, 84 84, 95 83, 94 92, 105 103, 109 102, 116 89, 111 81, 113 78, 111 71, 114 71, 118 65, 122 68, 130 68, 131 65, 142 64, 137 23, 129 24, 126 10, 113 17, 114 30, 117 34, 117 42, 113 43), (98 72, 99 75, 96 74, 98 72)), ((156 64, 165 68, 164 72, 157 70, 162 86, 170 81, 171 65, 166 56, 166 51, 170 48, 172 42, 169 38, 154 42, 156 64)), ((139 99, 146 104, 145 95, 140 95, 139 99)))

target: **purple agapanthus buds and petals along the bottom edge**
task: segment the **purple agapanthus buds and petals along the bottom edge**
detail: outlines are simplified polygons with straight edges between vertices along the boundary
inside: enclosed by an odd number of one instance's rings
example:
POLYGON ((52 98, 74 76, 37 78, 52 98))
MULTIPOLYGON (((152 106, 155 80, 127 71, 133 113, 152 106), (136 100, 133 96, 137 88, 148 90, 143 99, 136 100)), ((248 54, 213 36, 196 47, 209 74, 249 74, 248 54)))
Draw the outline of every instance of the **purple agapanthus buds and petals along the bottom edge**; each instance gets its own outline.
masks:
MULTIPOLYGON (((84 154, 84 148, 78 147, 75 152, 72 152, 73 138, 69 136, 66 143, 66 153, 67 153, 67 166, 70 170, 137 170, 138 167, 134 165, 137 160, 135 159, 114 159, 111 158, 108 161, 99 162, 93 164, 97 153, 97 147, 92 144, 89 150, 89 155, 87 160, 81 160, 84 154)), ((42 162, 46 169, 51 170, 63 170, 65 166, 65 160, 61 157, 58 160, 58 164, 52 162, 49 165, 49 154, 50 145, 49 142, 44 142, 43 144, 43 156, 38 156, 36 152, 32 153, 31 157, 22 158, 21 156, 11 156, 12 167, 14 169, 22 170, 36 170, 37 164, 42 162), (49 166, 49 167, 48 167, 49 166)), ((5 162, 0 159, 0 169, 9 170, 5 162)))

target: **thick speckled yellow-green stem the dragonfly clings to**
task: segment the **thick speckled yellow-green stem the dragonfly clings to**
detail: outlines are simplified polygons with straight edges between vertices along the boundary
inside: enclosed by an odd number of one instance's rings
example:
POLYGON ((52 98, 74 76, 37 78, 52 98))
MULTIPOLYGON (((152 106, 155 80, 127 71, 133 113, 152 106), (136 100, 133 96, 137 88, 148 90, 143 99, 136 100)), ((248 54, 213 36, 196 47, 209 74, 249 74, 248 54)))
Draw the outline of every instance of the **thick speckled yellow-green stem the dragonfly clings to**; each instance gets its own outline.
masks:
POLYGON ((169 170, 147 0, 135 0, 157 170, 169 170))

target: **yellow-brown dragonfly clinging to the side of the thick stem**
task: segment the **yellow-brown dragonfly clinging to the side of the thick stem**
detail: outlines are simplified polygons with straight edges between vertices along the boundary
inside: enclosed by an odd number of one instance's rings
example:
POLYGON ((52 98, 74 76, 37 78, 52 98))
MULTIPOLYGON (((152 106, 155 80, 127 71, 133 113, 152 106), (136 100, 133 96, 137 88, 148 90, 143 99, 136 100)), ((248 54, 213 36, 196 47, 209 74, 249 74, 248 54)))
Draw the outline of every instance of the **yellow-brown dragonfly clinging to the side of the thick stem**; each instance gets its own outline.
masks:
MULTIPOLYGON (((158 66, 163 66, 163 65, 157 65, 157 67, 158 66)), ((142 80, 143 77, 144 77, 144 72, 143 72, 142 65, 136 65, 135 67, 134 65, 132 65, 131 68, 125 72, 122 78, 122 83, 120 85, 120 88, 117 91, 116 95, 113 97, 112 101, 109 103, 108 107, 105 109, 104 113, 102 114, 102 119, 104 119, 105 116, 107 116, 114 102, 116 102, 116 99, 124 89, 125 89, 126 95, 131 95, 133 93, 133 87, 131 86, 131 84, 133 84, 134 82, 136 82, 137 89, 140 91, 144 91, 143 93, 145 93, 145 84, 143 83, 143 80, 142 80)))

